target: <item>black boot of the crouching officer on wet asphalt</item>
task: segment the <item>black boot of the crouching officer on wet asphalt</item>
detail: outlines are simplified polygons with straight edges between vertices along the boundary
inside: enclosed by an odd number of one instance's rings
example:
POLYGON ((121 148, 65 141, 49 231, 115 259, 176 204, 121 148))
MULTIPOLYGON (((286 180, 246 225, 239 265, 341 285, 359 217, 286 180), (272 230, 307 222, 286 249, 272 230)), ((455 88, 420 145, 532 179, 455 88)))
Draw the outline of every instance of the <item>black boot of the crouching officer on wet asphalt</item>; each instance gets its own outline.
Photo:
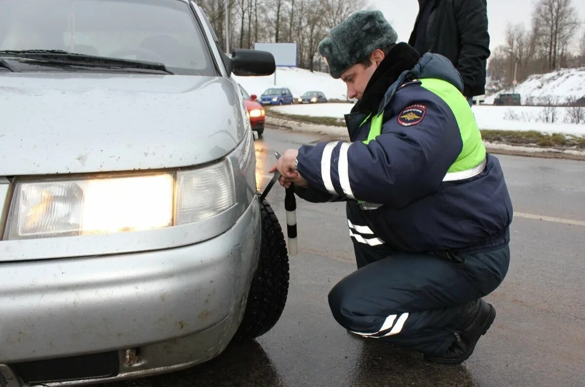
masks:
POLYGON ((425 359, 439 364, 460 364, 470 357, 477 340, 486 334, 495 319, 493 306, 480 299, 470 303, 466 313, 469 319, 463 324, 459 334, 455 334, 457 341, 451 344, 444 354, 439 356, 425 355, 425 359))

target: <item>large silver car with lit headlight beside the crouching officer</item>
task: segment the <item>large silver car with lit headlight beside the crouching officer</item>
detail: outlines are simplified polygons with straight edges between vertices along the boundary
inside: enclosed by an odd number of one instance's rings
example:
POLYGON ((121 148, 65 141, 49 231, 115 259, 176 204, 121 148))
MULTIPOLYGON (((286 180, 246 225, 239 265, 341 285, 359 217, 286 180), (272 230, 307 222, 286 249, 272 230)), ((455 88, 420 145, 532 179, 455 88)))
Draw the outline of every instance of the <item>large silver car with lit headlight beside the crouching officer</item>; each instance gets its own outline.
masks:
POLYGON ((226 56, 188 0, 0 9, 0 385, 159 374, 269 330, 288 257, 230 74, 272 55, 226 56))

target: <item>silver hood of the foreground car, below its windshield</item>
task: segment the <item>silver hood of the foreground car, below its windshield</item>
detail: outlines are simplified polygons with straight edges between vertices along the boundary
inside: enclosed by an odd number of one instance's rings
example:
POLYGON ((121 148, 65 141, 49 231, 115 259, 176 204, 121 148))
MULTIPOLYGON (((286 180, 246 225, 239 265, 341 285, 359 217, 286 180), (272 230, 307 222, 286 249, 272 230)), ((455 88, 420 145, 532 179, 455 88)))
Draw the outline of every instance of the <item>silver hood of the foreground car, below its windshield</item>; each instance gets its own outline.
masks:
POLYGON ((246 129, 222 77, 87 73, 0 76, 0 176, 208 163, 246 129))

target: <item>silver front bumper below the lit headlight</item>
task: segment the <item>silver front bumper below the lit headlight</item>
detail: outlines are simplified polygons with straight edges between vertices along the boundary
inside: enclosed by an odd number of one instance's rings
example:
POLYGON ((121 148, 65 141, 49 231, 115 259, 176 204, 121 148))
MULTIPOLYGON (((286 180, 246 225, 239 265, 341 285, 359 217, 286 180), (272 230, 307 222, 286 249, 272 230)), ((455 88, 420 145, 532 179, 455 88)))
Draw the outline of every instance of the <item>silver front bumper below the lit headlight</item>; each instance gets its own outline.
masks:
POLYGON ((209 360, 239 327, 259 249, 254 199, 231 229, 191 246, 2 262, 0 374, 26 385, 15 372, 23 362, 111 351, 118 373, 100 381, 209 360))

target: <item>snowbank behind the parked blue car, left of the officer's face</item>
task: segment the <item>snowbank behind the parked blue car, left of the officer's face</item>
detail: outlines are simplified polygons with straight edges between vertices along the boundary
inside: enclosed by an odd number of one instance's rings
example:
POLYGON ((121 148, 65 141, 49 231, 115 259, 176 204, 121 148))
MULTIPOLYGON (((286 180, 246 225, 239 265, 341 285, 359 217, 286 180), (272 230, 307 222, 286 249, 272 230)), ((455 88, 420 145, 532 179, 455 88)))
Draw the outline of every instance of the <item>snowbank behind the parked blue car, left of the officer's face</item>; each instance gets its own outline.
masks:
MULTIPOLYGON (((256 94, 258 98, 268 88, 274 86, 274 75, 267 77, 237 77, 232 75, 248 94, 256 94)), ((328 99, 347 99, 347 89, 342 80, 334 80, 325 72, 311 72, 297 67, 277 67, 276 87, 286 87, 295 98, 307 91, 322 91, 328 99)))

